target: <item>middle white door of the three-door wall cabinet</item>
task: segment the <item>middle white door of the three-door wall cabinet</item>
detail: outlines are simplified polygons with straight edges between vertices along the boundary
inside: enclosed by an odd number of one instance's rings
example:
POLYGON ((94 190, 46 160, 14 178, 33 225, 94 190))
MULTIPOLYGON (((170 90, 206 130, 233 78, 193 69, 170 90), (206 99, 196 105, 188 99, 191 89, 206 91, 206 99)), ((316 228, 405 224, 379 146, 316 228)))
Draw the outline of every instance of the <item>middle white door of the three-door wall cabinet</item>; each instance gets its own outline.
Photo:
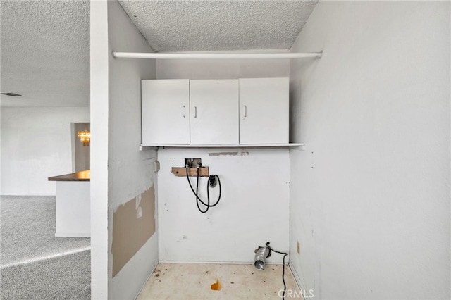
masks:
POLYGON ((238 80, 190 80, 191 144, 238 144, 238 80))

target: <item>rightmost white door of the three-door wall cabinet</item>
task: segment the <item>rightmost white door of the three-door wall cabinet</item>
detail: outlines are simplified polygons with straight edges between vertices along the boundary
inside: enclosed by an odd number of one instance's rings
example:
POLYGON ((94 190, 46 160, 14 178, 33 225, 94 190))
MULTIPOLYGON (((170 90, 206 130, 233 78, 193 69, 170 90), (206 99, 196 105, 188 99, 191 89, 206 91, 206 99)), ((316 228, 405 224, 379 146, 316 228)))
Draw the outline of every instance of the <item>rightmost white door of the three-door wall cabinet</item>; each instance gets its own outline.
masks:
POLYGON ((288 78, 240 79, 240 144, 288 143, 288 78))

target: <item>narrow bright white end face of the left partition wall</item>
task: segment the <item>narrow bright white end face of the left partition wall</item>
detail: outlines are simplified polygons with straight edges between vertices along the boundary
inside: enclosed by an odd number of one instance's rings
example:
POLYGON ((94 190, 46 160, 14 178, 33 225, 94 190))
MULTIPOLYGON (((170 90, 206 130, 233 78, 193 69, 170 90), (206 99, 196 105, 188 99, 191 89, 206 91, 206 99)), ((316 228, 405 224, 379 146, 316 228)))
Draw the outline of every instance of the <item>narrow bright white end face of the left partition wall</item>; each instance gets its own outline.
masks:
POLYGON ((109 285, 109 44, 108 1, 89 11, 91 104, 91 299, 108 299, 109 285))

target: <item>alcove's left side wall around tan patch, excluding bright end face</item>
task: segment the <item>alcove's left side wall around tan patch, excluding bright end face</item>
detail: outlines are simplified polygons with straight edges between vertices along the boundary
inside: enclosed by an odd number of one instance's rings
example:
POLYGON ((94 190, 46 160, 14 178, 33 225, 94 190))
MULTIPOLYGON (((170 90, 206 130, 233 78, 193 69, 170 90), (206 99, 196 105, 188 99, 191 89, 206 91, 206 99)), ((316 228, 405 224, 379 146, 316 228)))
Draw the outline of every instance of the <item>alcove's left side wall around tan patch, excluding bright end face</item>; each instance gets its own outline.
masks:
MULTIPOLYGON (((149 44, 117 1, 108 2, 109 53, 149 52, 149 44)), ((141 80, 155 78, 153 60, 109 56, 109 249, 113 212, 156 185, 156 150, 141 144, 141 80)), ((115 228, 118 230, 118 228, 115 228)), ((137 228, 136 230, 142 230, 137 228)), ((156 233, 109 282, 109 299, 133 299, 158 263, 156 233)), ((109 251, 109 274, 113 255, 109 251)), ((111 276, 111 275, 110 275, 111 276)))

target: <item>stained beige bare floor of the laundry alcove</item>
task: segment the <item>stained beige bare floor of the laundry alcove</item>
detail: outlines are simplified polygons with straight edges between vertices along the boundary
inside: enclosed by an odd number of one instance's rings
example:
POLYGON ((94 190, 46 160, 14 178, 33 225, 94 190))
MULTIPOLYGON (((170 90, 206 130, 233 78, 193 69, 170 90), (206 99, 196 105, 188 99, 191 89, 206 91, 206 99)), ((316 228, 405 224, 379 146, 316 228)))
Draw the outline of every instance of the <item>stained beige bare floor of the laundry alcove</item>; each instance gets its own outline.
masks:
MULTIPOLYGON (((302 299, 288 265, 285 282, 285 299, 290 291, 302 299)), ((137 299, 282 299, 282 291, 282 265, 257 270, 254 265, 159 263, 137 299), (216 282, 221 289, 214 290, 216 282)))

